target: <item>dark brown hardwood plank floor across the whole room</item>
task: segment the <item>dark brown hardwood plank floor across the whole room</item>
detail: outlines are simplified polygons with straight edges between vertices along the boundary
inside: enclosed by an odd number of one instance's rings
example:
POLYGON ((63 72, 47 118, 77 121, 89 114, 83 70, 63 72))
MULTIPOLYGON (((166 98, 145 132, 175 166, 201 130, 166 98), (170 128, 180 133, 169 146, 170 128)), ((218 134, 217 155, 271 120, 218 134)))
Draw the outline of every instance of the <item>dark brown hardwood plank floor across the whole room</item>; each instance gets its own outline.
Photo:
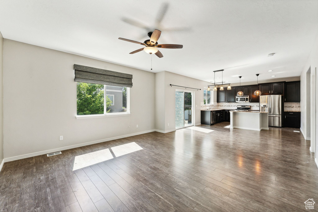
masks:
POLYGON ((227 125, 7 162, 0 211, 305 211, 306 200, 318 201, 314 154, 301 133, 227 125))

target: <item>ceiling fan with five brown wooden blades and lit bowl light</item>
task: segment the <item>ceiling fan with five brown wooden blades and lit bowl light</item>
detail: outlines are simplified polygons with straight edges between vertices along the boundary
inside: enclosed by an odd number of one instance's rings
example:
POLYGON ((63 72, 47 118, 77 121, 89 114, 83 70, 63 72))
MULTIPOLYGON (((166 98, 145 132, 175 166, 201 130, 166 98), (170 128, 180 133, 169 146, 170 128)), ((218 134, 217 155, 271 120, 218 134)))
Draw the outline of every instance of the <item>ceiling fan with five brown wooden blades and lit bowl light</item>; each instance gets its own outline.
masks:
POLYGON ((129 54, 135 54, 137 52, 140 52, 142 50, 144 50, 145 52, 147 52, 148 54, 155 54, 156 56, 158 56, 159 58, 163 57, 163 55, 161 54, 161 52, 156 49, 156 48, 162 48, 162 49, 182 49, 183 45, 179 45, 179 44, 158 44, 158 39, 161 35, 161 31, 160 30, 154 30, 153 32, 148 32, 148 36, 150 37, 150 39, 145 40, 143 43, 140 43, 138 41, 133 41, 133 40, 129 40, 126 38, 121 38, 119 37, 119 40, 123 40, 123 41, 128 41, 131 43, 137 43, 137 44, 141 44, 144 45, 146 47, 143 47, 141 49, 135 50, 130 52, 129 54), (156 47, 156 48, 155 48, 156 47))

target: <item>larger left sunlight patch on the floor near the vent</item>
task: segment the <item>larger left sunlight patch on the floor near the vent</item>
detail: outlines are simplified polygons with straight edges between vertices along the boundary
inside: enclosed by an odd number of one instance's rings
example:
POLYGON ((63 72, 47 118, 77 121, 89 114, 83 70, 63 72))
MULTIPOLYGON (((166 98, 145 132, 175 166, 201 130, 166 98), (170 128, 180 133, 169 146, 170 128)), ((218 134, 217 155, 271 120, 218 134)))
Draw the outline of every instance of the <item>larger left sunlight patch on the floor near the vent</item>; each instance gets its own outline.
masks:
POLYGON ((73 171, 114 158, 109 149, 75 156, 73 171))

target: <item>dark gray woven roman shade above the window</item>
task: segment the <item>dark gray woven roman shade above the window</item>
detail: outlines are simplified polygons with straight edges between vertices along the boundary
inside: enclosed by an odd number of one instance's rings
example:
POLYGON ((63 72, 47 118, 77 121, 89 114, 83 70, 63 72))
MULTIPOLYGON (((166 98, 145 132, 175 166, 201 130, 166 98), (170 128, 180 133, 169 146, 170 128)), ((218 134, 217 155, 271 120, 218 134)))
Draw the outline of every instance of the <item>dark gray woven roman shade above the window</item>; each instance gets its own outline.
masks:
POLYGON ((75 82, 133 87, 131 74, 74 64, 75 82))

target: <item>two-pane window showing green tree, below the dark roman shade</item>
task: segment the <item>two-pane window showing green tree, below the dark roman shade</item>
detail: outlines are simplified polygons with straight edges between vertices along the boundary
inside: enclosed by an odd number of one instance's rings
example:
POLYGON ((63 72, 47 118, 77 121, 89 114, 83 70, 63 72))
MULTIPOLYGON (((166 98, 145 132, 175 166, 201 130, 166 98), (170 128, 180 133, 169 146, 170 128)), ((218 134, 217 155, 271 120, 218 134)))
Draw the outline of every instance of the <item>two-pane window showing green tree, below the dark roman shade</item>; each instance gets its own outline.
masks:
POLYGON ((77 115, 129 113, 129 88, 77 83, 77 115))

